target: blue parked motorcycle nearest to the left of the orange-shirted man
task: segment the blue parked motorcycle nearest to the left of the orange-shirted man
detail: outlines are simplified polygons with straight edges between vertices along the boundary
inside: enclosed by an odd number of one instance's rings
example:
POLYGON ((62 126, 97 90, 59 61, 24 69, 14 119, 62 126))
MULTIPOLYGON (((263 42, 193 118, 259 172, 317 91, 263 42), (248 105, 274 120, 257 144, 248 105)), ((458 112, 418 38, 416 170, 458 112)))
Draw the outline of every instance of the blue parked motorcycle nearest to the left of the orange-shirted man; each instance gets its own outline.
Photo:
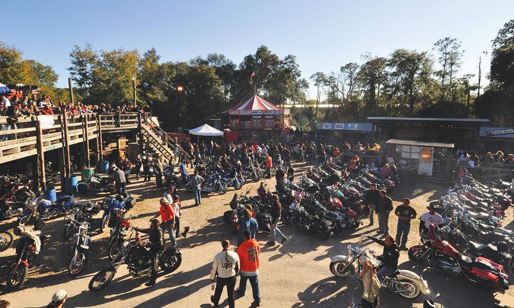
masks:
POLYGON ((116 197, 105 197, 100 203, 103 210, 100 231, 103 233, 107 227, 114 227, 122 211, 128 211, 136 205, 136 199, 130 194, 123 192, 116 197))

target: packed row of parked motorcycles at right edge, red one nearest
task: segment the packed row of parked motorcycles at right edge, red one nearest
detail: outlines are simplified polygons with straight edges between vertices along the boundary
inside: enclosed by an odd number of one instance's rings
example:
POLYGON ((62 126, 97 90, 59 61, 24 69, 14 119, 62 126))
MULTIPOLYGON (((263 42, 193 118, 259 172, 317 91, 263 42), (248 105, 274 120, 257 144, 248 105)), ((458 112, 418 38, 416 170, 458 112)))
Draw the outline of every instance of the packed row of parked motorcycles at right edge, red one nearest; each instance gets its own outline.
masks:
POLYGON ((409 259, 505 293, 507 272, 514 271, 514 234, 501 227, 510 191, 508 182, 484 185, 467 174, 447 195, 431 202, 444 224, 431 225, 422 244, 409 248, 409 259))

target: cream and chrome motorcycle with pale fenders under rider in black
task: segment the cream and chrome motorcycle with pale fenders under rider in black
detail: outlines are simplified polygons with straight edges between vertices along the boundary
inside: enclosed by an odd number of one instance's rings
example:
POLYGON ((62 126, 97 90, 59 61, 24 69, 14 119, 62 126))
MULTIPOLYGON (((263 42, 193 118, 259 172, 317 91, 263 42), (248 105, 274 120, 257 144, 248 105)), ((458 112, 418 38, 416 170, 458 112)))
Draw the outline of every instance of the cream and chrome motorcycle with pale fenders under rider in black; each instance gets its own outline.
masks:
MULTIPOLYGON (((330 271, 336 277, 348 277, 354 275, 356 280, 362 283, 359 273, 366 261, 371 261, 375 267, 380 267, 380 262, 373 257, 374 251, 368 248, 360 248, 360 244, 364 240, 365 235, 361 237, 359 244, 355 247, 348 245, 348 255, 340 255, 332 257, 330 263, 330 271)), ((399 269, 396 273, 384 277, 380 281, 382 288, 391 293, 397 293, 402 297, 413 299, 419 294, 428 294, 429 289, 427 282, 423 277, 406 269, 399 269)))

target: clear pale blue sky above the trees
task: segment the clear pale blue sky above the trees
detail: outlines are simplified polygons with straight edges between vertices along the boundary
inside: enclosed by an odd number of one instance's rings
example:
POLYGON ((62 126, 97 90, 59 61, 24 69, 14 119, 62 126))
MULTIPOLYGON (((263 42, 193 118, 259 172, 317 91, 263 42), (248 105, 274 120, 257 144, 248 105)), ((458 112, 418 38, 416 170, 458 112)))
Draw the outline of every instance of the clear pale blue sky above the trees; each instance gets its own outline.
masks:
MULTIPOLYGON (((364 52, 431 51, 450 36, 465 50, 461 74, 478 74, 482 51, 514 18, 514 1, 9 1, 2 10, 0 40, 51 65, 64 87, 69 52, 86 42, 141 53, 154 47, 163 62, 223 53, 236 64, 266 45, 296 55, 308 79, 361 64, 364 52)), ((484 76, 489 61, 483 57, 484 76)))

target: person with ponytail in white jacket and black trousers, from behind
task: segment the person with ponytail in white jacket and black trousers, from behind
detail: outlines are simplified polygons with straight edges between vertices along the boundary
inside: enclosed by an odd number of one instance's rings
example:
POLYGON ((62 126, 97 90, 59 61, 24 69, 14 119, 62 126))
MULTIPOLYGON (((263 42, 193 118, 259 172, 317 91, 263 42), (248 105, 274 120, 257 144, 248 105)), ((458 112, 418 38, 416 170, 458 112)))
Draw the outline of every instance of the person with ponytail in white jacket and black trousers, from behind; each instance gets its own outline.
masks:
POLYGON ((240 260, 236 252, 229 251, 229 240, 222 241, 223 251, 214 256, 211 267, 211 284, 214 284, 214 278, 217 275, 214 295, 211 295, 211 302, 214 307, 218 306, 219 298, 222 295, 223 287, 227 286, 228 306, 235 307, 234 288, 236 276, 240 271, 240 260))

